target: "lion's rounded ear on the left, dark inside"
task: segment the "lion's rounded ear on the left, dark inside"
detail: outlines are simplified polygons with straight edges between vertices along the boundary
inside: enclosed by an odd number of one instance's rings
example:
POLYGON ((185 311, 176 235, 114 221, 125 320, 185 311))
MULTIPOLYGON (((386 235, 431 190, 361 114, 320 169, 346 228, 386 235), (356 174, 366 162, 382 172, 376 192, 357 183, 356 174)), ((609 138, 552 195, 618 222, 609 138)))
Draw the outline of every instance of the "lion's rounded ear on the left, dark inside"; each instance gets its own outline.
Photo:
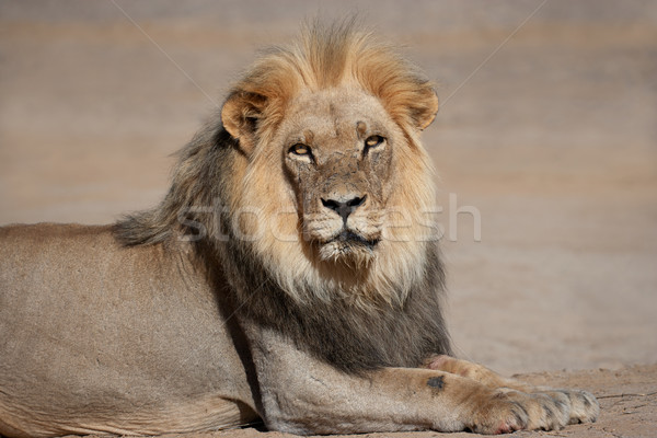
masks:
POLYGON ((221 123, 233 138, 240 141, 245 152, 255 145, 255 131, 265 108, 266 97, 245 91, 235 91, 228 96, 221 108, 221 123))

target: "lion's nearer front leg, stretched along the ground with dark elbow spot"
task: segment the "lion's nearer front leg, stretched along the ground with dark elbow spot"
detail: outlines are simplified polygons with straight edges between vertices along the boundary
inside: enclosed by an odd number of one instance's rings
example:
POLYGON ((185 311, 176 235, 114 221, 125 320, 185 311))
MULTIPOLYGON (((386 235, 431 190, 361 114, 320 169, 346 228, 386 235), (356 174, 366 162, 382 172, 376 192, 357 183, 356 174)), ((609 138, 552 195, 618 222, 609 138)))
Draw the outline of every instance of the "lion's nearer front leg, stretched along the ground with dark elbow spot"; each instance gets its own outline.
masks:
POLYGON ((278 333, 246 330, 268 428, 299 435, 371 431, 558 429, 568 406, 558 397, 492 389, 450 372, 383 368, 347 374, 298 349, 278 333))

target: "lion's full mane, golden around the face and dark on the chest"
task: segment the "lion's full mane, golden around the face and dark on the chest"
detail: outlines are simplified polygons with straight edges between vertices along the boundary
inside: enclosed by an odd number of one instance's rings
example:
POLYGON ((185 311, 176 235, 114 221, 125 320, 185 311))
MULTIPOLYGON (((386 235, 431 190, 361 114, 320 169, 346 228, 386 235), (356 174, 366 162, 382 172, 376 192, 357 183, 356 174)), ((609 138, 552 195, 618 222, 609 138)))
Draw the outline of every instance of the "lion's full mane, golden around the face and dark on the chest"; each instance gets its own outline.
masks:
POLYGON ((217 292, 232 298, 241 318, 286 333, 343 370, 417 366, 429 354, 448 354, 442 265, 420 219, 435 201, 433 169, 415 128, 437 111, 429 96, 431 84, 415 67, 356 32, 353 22, 311 25, 301 44, 272 48, 255 62, 229 93, 223 114, 181 151, 163 201, 118 221, 115 235, 125 245, 191 239, 203 262, 228 278, 217 292), (287 234, 298 232, 295 221, 269 217, 292 204, 281 191, 280 169, 261 162, 258 151, 275 137, 295 95, 344 85, 378 97, 403 131, 407 148, 396 155, 391 203, 414 219, 405 239, 382 241, 376 260, 357 268, 312 260, 301 238, 243 235, 254 230, 249 217, 258 215, 287 227, 287 234), (231 118, 226 108, 235 101, 241 106, 231 118), (227 124, 240 123, 252 125, 252 138, 228 134, 227 124), (257 215, 235 216, 249 207, 257 215))

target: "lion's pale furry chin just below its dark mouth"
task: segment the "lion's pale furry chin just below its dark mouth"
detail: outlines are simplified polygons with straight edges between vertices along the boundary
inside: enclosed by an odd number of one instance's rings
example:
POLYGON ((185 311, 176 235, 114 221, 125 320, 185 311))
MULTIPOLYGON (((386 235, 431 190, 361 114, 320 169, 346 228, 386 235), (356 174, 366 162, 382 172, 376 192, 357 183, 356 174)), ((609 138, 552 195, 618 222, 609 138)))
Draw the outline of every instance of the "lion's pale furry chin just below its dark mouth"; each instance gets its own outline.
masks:
POLYGON ((359 267, 367 266, 376 257, 378 240, 366 240, 358 234, 343 231, 336 238, 319 247, 320 258, 324 262, 342 262, 359 267))

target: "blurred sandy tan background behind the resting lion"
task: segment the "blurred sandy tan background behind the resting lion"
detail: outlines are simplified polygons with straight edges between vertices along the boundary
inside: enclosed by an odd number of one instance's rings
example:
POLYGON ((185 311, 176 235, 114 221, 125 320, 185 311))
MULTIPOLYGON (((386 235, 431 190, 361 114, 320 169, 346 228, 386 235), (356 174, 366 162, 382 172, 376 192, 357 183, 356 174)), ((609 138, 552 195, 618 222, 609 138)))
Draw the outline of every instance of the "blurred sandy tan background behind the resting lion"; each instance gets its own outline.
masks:
POLYGON ((354 12, 438 83, 458 354, 657 361, 655 1, 1 0, 0 223, 152 206, 260 48, 354 12))

